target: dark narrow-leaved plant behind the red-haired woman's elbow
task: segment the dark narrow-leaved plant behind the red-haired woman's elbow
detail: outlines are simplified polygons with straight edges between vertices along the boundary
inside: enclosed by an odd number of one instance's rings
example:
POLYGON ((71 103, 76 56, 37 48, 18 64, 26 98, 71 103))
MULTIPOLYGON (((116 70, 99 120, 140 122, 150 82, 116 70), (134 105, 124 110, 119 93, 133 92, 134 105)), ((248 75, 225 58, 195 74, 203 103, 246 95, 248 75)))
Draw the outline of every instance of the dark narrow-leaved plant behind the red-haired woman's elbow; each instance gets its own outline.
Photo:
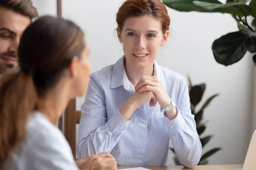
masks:
MULTIPOLYGON (((201 101, 202 96, 204 95, 206 85, 205 85, 205 83, 202 83, 200 85, 192 85, 190 77, 188 77, 188 79, 189 79, 189 97, 190 97, 190 104, 191 104, 190 109, 191 109, 192 114, 195 115, 194 119, 195 119, 195 123, 196 123, 196 130, 197 130, 200 142, 202 144, 202 147, 204 147, 212 138, 212 135, 202 137, 202 133, 206 129, 206 124, 207 124, 207 122, 202 121, 204 109, 207 108, 207 106, 212 101, 212 99, 214 99, 219 94, 214 94, 214 95, 210 96, 207 99, 207 101, 204 102, 204 105, 201 107, 201 109, 196 111, 197 110, 196 106, 201 101)), ((170 147, 169 149, 172 150, 173 152, 175 152, 172 147, 170 147)), ((218 150, 221 150, 221 148, 215 147, 212 150, 209 150, 208 152, 204 153, 201 156, 201 159, 200 159, 198 165, 208 164, 207 158, 209 156, 211 156, 212 154, 216 153, 218 150)), ((175 163, 177 165, 180 165, 180 162, 178 161, 177 157, 175 157, 175 163)))

